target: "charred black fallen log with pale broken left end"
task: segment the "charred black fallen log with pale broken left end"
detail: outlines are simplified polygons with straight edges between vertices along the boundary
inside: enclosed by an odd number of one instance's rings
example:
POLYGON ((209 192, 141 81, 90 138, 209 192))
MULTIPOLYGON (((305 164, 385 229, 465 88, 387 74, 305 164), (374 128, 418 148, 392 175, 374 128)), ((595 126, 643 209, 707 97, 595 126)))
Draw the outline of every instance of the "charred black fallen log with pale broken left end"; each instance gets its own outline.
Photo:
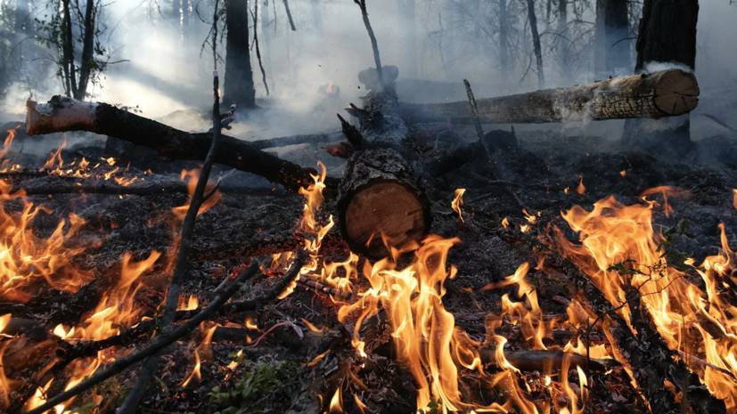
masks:
MULTIPOLYGON (((212 139, 209 133, 190 134, 107 103, 54 96, 48 103, 28 101, 26 106, 29 135, 88 131, 143 145, 178 159, 205 158, 212 139)), ((310 173, 314 173, 312 169, 258 150, 248 142, 223 135, 220 149, 216 159, 218 164, 261 175, 290 191, 313 183, 310 177, 310 173)))

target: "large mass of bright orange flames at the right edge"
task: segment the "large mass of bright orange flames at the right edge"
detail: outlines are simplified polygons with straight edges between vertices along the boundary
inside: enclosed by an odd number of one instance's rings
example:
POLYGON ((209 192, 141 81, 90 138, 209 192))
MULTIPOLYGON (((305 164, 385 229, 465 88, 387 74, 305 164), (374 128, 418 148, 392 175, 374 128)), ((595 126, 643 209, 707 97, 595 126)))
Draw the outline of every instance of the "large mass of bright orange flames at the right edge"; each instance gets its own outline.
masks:
MULTIPOLYGON (((647 194, 674 191, 658 188, 647 194)), ((722 229, 722 253, 710 256, 696 271, 706 291, 688 281, 684 272, 667 263, 662 241, 652 226, 654 203, 624 206, 610 197, 594 203, 592 211, 573 207, 563 213, 580 244, 556 231, 556 242, 565 256, 594 281, 613 305, 626 303, 626 291, 638 288, 643 310, 651 317, 668 347, 693 354, 707 366, 686 358, 691 369, 728 411, 737 409, 737 307, 726 302, 721 287, 734 269, 734 255, 722 229), (684 350, 685 344, 697 345, 684 350), (727 374, 730 373, 730 374, 727 374)), ((672 209, 666 204, 665 213, 672 209)), ((692 264, 692 260, 686 264, 692 264)), ((733 277, 733 276, 732 276, 733 277)), ((734 280, 731 280, 732 282, 734 280)), ((732 285, 734 286, 734 285, 732 285)), ((625 306, 619 313, 630 321, 625 306)))

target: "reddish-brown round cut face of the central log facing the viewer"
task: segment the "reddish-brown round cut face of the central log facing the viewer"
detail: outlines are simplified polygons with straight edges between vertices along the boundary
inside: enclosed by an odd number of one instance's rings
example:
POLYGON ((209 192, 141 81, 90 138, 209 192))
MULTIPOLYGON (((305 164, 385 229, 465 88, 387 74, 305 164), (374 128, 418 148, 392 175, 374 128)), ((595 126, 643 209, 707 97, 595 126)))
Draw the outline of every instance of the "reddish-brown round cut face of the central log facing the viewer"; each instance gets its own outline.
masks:
POLYGON ((414 191, 399 183, 369 183, 354 193, 345 212, 345 231, 351 248, 370 256, 386 254, 384 244, 401 247, 422 239, 424 207, 414 191))

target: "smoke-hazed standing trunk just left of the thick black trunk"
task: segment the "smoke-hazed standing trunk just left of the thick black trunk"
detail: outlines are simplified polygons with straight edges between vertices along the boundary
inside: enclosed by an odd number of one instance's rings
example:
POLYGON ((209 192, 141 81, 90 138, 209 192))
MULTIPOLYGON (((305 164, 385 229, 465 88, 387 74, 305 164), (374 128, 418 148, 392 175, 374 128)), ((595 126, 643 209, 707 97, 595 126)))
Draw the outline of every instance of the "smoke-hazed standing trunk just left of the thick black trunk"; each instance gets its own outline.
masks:
POLYGON ((594 68, 598 77, 618 74, 631 67, 627 37, 626 0, 597 0, 594 68))

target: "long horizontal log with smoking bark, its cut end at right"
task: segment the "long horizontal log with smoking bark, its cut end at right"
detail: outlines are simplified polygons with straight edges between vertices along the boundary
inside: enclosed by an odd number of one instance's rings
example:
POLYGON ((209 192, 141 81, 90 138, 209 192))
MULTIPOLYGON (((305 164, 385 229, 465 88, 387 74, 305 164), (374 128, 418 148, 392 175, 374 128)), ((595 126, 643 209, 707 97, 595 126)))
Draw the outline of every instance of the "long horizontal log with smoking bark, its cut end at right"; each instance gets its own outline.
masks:
MULTIPOLYGON (((623 118, 663 118, 691 112, 699 104, 696 77, 681 69, 615 77, 590 85, 546 89, 477 100, 486 123, 536 124, 623 118)), ((407 122, 472 122, 467 101, 400 103, 407 122)))

